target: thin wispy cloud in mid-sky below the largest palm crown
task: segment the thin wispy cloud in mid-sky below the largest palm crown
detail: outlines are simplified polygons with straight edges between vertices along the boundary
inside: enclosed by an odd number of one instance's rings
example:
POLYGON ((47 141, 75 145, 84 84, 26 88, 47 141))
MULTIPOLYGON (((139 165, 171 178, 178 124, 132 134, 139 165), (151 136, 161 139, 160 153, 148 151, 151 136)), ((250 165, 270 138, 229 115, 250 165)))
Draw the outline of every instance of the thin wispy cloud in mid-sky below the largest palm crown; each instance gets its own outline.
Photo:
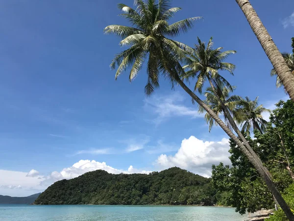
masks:
POLYGON ((164 120, 173 116, 188 116, 191 118, 203 117, 199 114, 197 107, 189 108, 184 104, 184 97, 175 92, 169 96, 151 97, 144 100, 144 107, 148 112, 156 114, 156 118, 151 120, 152 123, 158 125, 164 120))

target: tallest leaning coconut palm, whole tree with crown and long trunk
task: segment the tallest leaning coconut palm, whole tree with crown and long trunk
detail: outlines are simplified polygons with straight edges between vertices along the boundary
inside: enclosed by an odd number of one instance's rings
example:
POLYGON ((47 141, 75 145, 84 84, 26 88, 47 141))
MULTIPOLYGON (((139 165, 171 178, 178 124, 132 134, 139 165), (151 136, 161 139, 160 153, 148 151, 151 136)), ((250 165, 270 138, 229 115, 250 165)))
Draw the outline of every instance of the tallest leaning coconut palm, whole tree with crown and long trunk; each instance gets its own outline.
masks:
MULTIPOLYGON (((145 92, 150 95, 159 86, 159 74, 168 78, 172 86, 178 83, 214 120, 221 126, 226 134, 232 138, 240 147, 248 160, 263 177, 270 191, 275 195, 281 208, 288 211, 289 208, 281 194, 274 186, 268 170, 263 166, 250 146, 245 146, 243 142, 225 125, 221 118, 212 111, 192 90, 182 81, 185 71, 181 62, 187 53, 193 54, 194 50, 187 45, 174 41, 168 36, 174 37, 180 33, 188 31, 193 27, 193 22, 199 17, 185 19, 169 25, 168 20, 180 8, 170 6, 170 0, 135 0, 136 10, 125 4, 119 4, 119 9, 123 10, 122 16, 130 21, 133 27, 111 25, 104 29, 105 33, 114 33, 123 40, 121 45, 128 45, 129 48, 115 56, 111 63, 111 68, 118 66, 116 78, 131 67, 129 80, 132 81, 142 68, 147 58, 147 84, 145 92)), ((290 211, 290 209, 289 209, 290 211)))

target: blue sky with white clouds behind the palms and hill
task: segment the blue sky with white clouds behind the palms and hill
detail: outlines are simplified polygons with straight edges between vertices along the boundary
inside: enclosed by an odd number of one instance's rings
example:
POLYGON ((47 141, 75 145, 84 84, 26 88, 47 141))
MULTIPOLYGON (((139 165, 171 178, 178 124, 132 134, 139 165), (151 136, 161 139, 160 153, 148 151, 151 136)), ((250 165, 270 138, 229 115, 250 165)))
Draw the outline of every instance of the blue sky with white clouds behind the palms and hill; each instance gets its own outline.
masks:
MULTIPOLYGON (((124 0, 133 6, 133 0, 124 0)), ((118 0, 9 0, 0 2, 0 194, 26 196, 88 171, 148 173, 178 166, 202 176, 229 164, 228 137, 208 132, 203 114, 182 88, 160 88, 146 97, 146 70, 129 83, 109 64, 120 39, 108 25, 128 25, 118 0)), ((293 0, 251 0, 281 52, 291 52, 293 0)), ((288 99, 270 77, 272 68, 235 1, 173 0, 182 8, 172 22, 202 16, 176 40, 196 37, 236 50, 227 62, 236 94, 274 109, 288 99)), ((190 87, 193 87, 191 82, 190 87)), ((265 116, 268 118, 269 115, 265 116)))

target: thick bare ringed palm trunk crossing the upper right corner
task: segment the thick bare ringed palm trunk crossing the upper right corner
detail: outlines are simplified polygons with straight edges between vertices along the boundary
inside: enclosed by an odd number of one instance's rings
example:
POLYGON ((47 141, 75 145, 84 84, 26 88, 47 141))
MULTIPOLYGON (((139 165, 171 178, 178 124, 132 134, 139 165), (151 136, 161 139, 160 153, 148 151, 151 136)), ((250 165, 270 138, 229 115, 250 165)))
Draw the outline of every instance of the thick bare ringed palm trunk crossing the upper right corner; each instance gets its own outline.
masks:
POLYGON ((262 24, 249 0, 236 0, 236 2, 243 11, 265 53, 268 55, 272 66, 287 90, 290 98, 294 101, 294 75, 291 73, 269 32, 262 24))

